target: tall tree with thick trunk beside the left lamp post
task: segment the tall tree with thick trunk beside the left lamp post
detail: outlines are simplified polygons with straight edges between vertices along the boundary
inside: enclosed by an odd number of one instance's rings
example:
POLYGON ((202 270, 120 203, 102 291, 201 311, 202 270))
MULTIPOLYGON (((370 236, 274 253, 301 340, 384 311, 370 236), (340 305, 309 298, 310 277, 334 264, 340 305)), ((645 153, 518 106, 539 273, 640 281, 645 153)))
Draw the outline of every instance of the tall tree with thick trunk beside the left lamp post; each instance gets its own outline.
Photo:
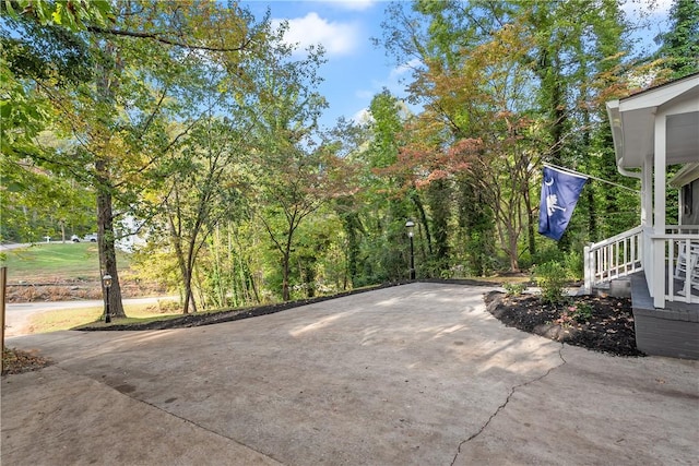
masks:
MULTIPOLYGON (((164 121, 203 112, 196 100, 188 101, 201 70, 189 67, 208 53, 235 73, 242 51, 262 46, 263 32, 239 8, 209 2, 193 1, 187 11, 179 3, 117 2, 112 13, 108 24, 85 21, 73 36, 90 50, 94 75, 70 91, 40 75, 32 79, 72 133, 74 150, 50 162, 69 167, 97 192, 100 268, 114 279, 110 309, 123 315, 115 254, 121 212, 115 211, 115 201, 122 212, 130 210, 146 171, 164 156, 163 146, 177 140, 162 143, 164 121)), ((29 43, 32 31, 21 25, 29 43)))

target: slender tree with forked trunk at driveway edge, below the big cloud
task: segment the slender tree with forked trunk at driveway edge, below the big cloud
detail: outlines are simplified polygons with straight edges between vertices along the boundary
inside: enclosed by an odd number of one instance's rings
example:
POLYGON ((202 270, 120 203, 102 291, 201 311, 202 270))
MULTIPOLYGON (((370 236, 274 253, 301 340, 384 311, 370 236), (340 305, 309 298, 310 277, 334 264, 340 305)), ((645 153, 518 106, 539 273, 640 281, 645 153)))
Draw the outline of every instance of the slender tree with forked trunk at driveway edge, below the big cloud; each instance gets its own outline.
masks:
MULTIPOLYGON (((284 31, 282 31, 283 33, 284 31)), ((292 50, 282 50, 291 56, 292 50)), ((291 258, 296 232, 309 215, 330 199, 332 154, 315 140, 318 118, 327 106, 318 94, 322 49, 311 47, 301 60, 260 63, 259 124, 252 166, 258 218, 279 253, 282 298, 291 298, 291 258)))

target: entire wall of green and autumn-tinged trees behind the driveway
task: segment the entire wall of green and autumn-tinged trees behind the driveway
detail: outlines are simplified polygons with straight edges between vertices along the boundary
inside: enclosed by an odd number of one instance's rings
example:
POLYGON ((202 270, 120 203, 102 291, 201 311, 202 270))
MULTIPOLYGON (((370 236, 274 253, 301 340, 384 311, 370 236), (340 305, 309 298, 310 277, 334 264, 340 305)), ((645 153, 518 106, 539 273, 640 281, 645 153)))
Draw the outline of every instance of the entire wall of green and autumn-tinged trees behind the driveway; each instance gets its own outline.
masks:
POLYGON ((633 187, 604 103, 699 70, 692 0, 642 57, 616 0, 393 2, 375 43, 412 63, 406 101, 383 89, 367 120, 320 128, 323 49, 298 58, 269 13, 0 5, 1 238, 97 231, 117 315, 128 236, 183 312, 405 279, 407 220, 419 278, 552 259, 580 274, 583 244, 636 226, 639 200, 592 182, 554 242, 535 234, 542 165, 633 187))

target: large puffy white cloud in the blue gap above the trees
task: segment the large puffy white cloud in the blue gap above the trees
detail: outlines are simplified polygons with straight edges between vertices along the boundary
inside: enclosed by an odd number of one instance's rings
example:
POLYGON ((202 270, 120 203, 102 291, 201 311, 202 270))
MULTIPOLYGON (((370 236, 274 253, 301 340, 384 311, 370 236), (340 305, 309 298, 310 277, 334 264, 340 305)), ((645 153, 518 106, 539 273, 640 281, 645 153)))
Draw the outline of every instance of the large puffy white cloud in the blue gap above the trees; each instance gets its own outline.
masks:
MULTIPOLYGON (((301 50, 310 45, 321 44, 328 56, 348 55, 357 48, 362 38, 357 24, 327 21, 316 12, 287 21, 288 31, 284 40, 297 44, 301 50)), ((274 20, 273 25, 279 26, 282 20, 274 20)))

